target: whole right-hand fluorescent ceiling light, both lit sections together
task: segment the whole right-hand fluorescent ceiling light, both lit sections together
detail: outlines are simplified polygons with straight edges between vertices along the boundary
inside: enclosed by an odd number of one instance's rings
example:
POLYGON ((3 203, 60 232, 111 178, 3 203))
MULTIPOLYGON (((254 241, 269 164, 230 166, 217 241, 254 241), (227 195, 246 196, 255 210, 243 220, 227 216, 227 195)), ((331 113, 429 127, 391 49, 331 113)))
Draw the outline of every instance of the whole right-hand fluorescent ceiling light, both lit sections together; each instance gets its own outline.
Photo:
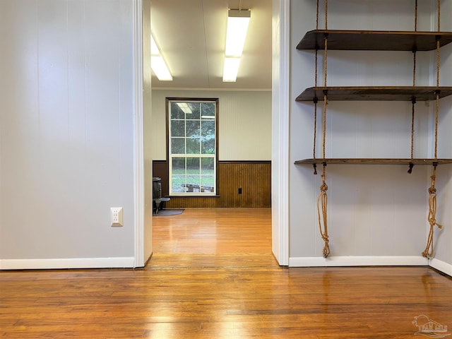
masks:
POLYGON ((230 9, 227 12, 224 82, 233 83, 237 80, 250 18, 251 11, 247 9, 243 11, 230 9))

